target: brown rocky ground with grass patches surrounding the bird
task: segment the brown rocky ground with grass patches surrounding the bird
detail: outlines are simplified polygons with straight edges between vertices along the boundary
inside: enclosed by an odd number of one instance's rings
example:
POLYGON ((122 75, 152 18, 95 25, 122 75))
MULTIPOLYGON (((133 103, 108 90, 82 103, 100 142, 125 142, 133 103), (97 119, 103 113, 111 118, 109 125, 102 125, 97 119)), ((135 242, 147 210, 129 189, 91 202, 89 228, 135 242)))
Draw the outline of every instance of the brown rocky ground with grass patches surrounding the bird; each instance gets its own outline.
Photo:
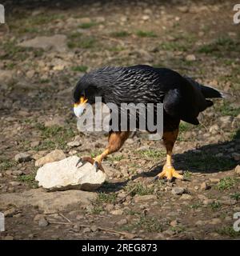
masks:
POLYGON ((233 229, 240 212, 234 1, 13 2, 0 25, 0 239, 240 238, 233 229), (174 166, 189 181, 152 183, 165 150, 138 133, 106 159, 100 190, 38 188, 46 154, 94 156, 106 146, 106 135, 77 130, 71 90, 78 78, 98 66, 138 63, 229 93, 201 114, 201 125, 181 123, 174 166))

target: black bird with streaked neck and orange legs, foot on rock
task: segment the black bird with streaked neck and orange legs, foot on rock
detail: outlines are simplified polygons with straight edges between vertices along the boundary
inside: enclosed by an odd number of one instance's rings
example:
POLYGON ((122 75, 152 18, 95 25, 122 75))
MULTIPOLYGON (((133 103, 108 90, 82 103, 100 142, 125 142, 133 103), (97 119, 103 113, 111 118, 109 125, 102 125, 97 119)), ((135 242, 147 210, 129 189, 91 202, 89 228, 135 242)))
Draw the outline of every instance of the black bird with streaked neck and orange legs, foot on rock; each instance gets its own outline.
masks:
MULTIPOLYGON (((222 93, 202 86, 194 79, 167 68, 138 65, 129 67, 106 66, 85 74, 74 88, 74 113, 78 118, 86 105, 95 103, 95 97, 104 103, 163 103, 163 142, 166 146, 166 164, 156 178, 182 179, 171 163, 172 150, 178 137, 181 120, 198 125, 198 114, 213 102, 206 98, 222 98, 222 93), (79 111, 80 110, 80 111, 79 111)), ((84 158, 102 169, 102 159, 119 150, 130 135, 130 130, 110 130, 106 150, 96 158, 84 158)))

